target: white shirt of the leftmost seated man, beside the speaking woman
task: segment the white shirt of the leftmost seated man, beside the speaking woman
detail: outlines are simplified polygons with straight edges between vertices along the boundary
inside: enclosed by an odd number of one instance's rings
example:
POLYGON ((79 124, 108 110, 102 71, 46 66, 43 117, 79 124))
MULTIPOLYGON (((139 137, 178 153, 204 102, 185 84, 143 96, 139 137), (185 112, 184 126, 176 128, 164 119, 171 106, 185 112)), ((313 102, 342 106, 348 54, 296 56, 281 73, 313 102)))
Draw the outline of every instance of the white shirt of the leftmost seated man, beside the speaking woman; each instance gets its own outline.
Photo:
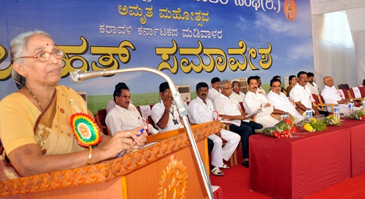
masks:
MULTIPOLYGON (((133 104, 129 104, 128 108, 115 105, 107 114, 105 122, 112 135, 117 131, 131 130, 147 124, 147 120, 140 116, 140 113, 133 104)), ((148 124, 148 132, 150 134, 159 133, 151 124, 148 124)))

